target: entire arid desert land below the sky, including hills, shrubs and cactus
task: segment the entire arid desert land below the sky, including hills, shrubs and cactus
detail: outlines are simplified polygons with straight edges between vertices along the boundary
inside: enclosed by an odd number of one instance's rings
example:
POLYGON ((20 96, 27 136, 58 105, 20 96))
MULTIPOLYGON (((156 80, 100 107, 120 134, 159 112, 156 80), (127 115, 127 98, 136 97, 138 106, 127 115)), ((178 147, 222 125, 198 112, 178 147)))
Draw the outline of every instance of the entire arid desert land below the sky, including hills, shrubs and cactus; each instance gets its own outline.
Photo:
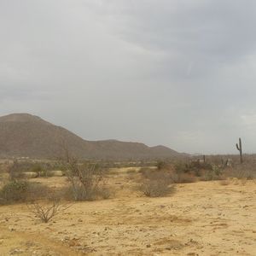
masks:
POLYGON ((256 254, 256 158, 241 139, 240 156, 193 156, 15 113, 0 145, 1 256, 256 254))

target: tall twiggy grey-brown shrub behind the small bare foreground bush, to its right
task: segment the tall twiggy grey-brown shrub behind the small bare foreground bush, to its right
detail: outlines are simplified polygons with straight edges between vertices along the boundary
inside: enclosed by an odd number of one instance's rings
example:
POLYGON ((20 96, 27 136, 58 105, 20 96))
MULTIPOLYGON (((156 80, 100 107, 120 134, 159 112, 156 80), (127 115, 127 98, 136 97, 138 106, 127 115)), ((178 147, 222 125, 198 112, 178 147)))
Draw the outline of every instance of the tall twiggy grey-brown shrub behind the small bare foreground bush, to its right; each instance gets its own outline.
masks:
POLYGON ((67 163, 65 172, 70 186, 69 195, 75 201, 95 201, 98 198, 107 198, 104 181, 104 170, 96 164, 84 163, 79 165, 77 160, 67 163))

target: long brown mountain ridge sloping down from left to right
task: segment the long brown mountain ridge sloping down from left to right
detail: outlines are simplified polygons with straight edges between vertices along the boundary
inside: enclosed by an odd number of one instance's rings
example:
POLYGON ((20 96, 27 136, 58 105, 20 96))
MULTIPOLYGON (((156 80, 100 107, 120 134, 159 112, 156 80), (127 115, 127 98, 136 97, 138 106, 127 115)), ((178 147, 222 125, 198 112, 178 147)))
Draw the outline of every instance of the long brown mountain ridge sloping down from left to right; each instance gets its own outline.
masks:
POLYGON ((116 140, 86 141, 61 126, 28 113, 0 117, 0 157, 55 158, 70 152, 84 159, 145 160, 178 156, 164 146, 116 140))

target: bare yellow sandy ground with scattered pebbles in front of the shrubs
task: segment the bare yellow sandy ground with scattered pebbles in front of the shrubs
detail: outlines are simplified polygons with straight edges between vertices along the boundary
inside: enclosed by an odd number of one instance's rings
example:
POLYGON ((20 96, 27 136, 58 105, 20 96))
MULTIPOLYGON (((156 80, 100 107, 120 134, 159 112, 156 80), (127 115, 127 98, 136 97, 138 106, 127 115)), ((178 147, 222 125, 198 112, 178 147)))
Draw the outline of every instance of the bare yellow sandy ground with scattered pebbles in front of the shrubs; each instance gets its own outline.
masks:
POLYGON ((49 224, 26 205, 0 207, 0 255, 256 255, 253 181, 180 184, 147 198, 132 175, 113 175, 114 199, 75 203, 49 224))

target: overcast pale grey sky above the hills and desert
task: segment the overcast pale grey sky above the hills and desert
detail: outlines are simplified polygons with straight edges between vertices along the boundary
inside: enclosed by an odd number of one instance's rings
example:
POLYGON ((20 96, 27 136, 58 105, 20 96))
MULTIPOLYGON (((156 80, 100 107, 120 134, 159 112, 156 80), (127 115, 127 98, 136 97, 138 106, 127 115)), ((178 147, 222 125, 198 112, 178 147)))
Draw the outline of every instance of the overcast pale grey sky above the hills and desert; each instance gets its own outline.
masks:
POLYGON ((0 115, 256 153, 255 26, 253 0, 0 0, 0 115))

